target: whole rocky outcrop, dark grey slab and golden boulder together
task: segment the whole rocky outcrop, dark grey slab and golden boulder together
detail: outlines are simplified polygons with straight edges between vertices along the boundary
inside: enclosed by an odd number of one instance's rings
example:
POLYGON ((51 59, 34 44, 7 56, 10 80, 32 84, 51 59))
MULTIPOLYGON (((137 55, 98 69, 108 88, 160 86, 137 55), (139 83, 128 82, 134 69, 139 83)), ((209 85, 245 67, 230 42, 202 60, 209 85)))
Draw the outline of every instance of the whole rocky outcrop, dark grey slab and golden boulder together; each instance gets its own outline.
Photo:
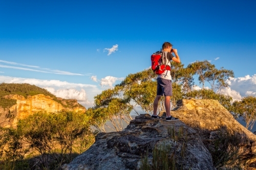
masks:
POLYGON ((145 157, 153 166, 156 153, 164 151, 182 169, 253 169, 255 135, 218 101, 182 100, 171 114, 180 120, 143 114, 124 131, 99 133, 91 148, 62 169, 140 169, 145 157))

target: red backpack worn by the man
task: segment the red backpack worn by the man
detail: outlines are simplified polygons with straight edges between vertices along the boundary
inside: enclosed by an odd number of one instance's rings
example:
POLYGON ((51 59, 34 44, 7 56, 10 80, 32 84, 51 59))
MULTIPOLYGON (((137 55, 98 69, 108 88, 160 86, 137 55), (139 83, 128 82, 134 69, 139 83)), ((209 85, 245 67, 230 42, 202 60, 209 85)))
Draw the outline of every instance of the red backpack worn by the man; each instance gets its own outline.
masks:
POLYGON ((158 51, 151 55, 151 68, 157 75, 161 75, 165 70, 170 70, 168 62, 164 52, 158 51))

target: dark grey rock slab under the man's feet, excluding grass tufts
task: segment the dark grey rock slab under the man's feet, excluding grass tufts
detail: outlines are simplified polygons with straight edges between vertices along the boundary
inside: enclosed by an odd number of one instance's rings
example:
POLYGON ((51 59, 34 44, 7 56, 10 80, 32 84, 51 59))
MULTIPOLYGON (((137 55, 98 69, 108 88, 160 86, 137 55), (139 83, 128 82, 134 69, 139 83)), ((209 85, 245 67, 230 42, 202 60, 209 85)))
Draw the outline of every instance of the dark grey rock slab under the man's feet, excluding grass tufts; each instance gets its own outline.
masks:
MULTIPOLYGON (((122 132, 100 133, 92 147, 76 157, 63 169, 140 169, 141 155, 146 151, 152 161, 154 147, 174 145, 181 147, 181 143, 173 141, 168 134, 168 128, 184 127, 187 134, 186 158, 179 162, 185 168, 215 169, 211 155, 203 145, 196 131, 186 127, 180 120, 165 122, 163 119, 151 118, 149 114, 137 116, 135 120, 122 132), (190 160, 197 163, 191 163, 190 160)), ((179 154, 179 153, 177 153, 179 154)), ((177 160, 179 161, 179 160, 177 160)))

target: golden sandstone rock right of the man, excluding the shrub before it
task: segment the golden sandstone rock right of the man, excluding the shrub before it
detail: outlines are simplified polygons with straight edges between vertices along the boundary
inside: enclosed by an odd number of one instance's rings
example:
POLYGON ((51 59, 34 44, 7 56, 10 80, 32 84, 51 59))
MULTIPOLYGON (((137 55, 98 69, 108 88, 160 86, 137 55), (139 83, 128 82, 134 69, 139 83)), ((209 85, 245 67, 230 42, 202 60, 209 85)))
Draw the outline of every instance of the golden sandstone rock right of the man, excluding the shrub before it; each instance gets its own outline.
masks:
MULTIPOLYGON (((229 137, 241 138, 239 147, 237 147, 236 160, 229 166, 240 164, 241 167, 245 167, 256 161, 256 136, 237 122, 217 100, 191 99, 181 100, 177 104, 178 107, 172 111, 172 115, 197 130, 208 149, 212 147, 208 141, 211 141, 209 139, 213 134, 228 133, 231 135, 229 137)), ((219 135, 215 139, 218 137, 219 135)))

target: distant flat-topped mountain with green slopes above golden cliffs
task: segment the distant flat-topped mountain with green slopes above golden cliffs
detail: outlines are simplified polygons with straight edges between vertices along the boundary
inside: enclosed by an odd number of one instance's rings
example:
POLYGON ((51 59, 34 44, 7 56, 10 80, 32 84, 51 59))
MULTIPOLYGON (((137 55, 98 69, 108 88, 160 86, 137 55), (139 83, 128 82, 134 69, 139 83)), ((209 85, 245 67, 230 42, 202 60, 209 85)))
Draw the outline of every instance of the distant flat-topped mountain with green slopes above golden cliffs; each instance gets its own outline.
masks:
POLYGON ((5 120, 8 111, 16 116, 10 122, 1 124, 3 127, 15 127, 18 119, 26 118, 35 112, 46 110, 55 112, 60 110, 86 111, 75 99, 61 99, 48 90, 30 84, 2 83, 0 84, 0 123, 5 120))

